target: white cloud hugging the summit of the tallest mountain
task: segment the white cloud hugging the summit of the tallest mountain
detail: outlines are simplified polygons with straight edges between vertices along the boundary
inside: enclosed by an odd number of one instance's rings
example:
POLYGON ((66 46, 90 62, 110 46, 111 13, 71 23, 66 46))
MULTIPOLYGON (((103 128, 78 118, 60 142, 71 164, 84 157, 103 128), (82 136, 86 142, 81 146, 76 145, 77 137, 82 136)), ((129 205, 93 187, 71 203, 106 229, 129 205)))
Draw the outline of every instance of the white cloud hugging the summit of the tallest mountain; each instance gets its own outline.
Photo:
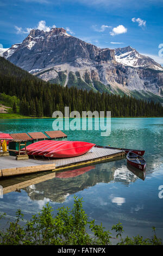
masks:
MULTIPOLYGON (((56 26, 53 25, 52 28, 55 28, 56 26)), ((30 31, 32 31, 32 29, 34 28, 25 28, 25 29, 22 29, 22 27, 17 27, 15 26, 15 29, 16 29, 16 34, 29 34, 30 31)), ((51 27, 48 27, 46 26, 46 21, 39 21, 37 27, 35 27, 35 29, 40 29, 40 30, 43 30, 45 32, 48 32, 51 30, 51 27)))

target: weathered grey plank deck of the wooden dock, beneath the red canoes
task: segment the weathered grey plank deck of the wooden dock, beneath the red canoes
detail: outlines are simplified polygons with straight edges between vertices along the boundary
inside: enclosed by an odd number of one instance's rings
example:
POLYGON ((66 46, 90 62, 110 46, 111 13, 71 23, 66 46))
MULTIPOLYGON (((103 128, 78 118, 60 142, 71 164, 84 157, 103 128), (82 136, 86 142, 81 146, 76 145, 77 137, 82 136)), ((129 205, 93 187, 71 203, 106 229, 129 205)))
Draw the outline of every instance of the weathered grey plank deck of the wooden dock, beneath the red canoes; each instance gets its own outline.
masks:
POLYGON ((122 150, 94 147, 85 155, 67 159, 48 160, 45 157, 44 159, 38 157, 37 159, 16 161, 14 156, 1 156, 0 177, 84 166, 101 161, 109 161, 114 157, 123 156, 123 154, 122 150))

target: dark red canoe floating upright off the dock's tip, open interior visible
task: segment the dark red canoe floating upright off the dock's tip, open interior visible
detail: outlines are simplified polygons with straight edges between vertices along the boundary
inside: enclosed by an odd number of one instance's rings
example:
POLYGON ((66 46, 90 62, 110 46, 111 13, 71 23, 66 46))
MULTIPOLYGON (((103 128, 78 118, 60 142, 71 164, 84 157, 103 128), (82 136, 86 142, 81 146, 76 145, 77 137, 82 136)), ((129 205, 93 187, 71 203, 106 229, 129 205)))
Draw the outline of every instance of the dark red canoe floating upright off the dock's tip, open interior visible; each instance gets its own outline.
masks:
POLYGON ((127 154, 127 163, 137 169, 144 170, 146 168, 146 161, 142 156, 139 156, 131 151, 127 154))

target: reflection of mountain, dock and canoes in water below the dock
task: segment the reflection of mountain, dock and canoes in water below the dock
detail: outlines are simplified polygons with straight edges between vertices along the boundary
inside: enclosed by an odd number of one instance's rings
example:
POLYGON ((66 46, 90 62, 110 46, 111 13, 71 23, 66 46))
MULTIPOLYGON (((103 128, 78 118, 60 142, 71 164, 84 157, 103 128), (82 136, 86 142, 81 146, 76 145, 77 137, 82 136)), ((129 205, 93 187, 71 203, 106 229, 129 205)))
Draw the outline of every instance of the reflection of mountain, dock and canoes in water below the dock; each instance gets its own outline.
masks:
POLYGON ((16 177, 12 179, 12 183, 15 180, 15 184, 12 185, 11 180, 8 179, 3 182, 3 187, 4 191, 8 190, 8 192, 23 188, 32 200, 48 198, 52 202, 62 203, 69 194, 77 193, 99 183, 121 182, 124 186, 129 186, 139 176, 136 175, 136 172, 127 169, 126 160, 121 159, 64 172, 26 175, 26 181, 23 181, 25 179, 23 176, 16 177))

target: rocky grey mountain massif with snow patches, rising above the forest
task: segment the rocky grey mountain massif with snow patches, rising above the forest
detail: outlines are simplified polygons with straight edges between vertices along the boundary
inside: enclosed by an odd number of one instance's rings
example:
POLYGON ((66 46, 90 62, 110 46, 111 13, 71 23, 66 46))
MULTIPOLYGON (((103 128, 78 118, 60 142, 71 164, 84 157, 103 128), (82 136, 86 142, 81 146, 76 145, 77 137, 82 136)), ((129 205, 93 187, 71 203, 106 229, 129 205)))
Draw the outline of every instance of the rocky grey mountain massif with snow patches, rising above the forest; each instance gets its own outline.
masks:
POLYGON ((130 46, 98 48, 66 33, 33 29, 21 44, 2 53, 45 81, 99 92, 153 99, 163 96, 163 68, 130 46))

